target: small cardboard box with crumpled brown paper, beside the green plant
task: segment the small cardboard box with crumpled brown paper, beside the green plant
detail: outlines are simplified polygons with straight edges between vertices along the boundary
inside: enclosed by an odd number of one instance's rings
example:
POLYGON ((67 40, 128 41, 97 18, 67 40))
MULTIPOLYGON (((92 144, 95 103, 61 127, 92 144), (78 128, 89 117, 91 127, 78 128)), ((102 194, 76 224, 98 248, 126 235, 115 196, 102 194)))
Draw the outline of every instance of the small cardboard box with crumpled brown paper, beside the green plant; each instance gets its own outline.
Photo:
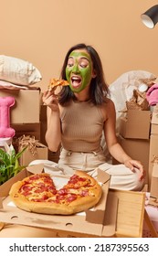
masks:
MULTIPOLYGON (((20 152, 22 147, 19 147, 18 151, 20 152)), ((48 149, 44 144, 37 144, 36 147, 26 148, 26 151, 19 158, 20 165, 29 165, 32 161, 37 159, 47 160, 48 149)))

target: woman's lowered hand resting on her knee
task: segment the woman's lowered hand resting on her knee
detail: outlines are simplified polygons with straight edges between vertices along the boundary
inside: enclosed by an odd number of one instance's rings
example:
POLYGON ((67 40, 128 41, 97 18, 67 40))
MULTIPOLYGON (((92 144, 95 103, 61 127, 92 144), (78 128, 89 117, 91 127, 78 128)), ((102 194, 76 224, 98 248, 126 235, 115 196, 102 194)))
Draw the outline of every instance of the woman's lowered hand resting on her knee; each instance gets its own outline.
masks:
POLYGON ((145 178, 145 171, 143 169, 142 163, 137 160, 128 159, 124 162, 124 165, 132 170, 134 172, 134 168, 137 168, 140 170, 140 181, 145 178))

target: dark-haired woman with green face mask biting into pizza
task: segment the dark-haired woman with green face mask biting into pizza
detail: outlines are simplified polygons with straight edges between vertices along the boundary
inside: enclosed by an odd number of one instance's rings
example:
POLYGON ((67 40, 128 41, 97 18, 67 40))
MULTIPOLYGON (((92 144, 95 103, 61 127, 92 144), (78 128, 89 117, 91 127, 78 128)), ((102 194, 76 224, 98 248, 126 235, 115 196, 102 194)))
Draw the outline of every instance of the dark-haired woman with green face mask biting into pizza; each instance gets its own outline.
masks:
POLYGON ((143 166, 127 155, 117 141, 115 108, 97 51, 85 44, 70 48, 61 79, 68 80, 69 86, 58 94, 55 91, 43 94, 43 102, 48 107, 48 148, 57 152, 61 144, 58 167, 82 169, 94 177, 99 167, 111 175, 111 188, 141 190, 143 166), (102 132, 110 154, 121 165, 106 163, 100 146, 102 132))

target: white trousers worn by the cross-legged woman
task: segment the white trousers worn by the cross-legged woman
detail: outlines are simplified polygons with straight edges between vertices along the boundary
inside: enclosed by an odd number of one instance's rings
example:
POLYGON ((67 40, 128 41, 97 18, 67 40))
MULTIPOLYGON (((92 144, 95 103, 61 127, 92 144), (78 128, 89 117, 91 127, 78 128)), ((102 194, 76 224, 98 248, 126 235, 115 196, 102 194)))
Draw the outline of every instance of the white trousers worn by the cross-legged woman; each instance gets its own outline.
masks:
POLYGON ((58 164, 48 160, 36 160, 30 165, 39 163, 44 164, 45 172, 58 172, 61 175, 71 175, 75 170, 83 170, 96 177, 100 168, 111 175, 110 187, 115 189, 141 191, 144 186, 144 180, 139 180, 140 171, 137 168, 132 172, 125 165, 108 164, 101 150, 97 153, 76 153, 62 149, 58 164))

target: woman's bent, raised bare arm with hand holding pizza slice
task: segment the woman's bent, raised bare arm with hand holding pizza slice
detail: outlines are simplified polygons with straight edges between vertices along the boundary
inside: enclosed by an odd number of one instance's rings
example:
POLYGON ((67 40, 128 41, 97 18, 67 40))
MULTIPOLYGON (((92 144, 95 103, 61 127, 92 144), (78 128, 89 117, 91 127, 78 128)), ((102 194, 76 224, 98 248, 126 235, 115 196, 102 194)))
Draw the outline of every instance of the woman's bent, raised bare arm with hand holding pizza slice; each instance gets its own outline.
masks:
POLYGON ((57 152, 61 142, 58 98, 51 91, 46 91, 43 94, 42 100, 47 105, 47 132, 45 136, 47 146, 50 151, 57 152))

